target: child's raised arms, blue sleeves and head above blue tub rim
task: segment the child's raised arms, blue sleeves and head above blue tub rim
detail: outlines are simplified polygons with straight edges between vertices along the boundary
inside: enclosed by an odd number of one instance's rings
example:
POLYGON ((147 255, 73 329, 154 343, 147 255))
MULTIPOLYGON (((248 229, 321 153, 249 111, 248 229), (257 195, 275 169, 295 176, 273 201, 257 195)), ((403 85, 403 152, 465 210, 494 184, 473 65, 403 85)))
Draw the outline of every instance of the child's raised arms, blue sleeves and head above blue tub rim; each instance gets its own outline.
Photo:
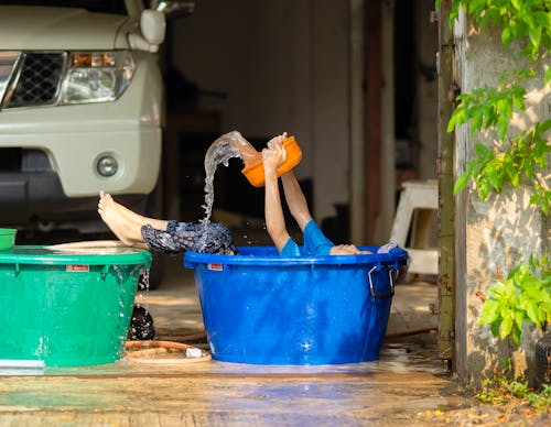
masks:
POLYGON ((358 255, 371 253, 361 251, 354 244, 334 244, 328 240, 313 220, 306 204, 306 198, 294 176, 293 171, 281 176, 285 200, 300 229, 304 234, 304 245, 299 245, 289 234, 281 198, 279 194, 277 169, 283 164, 287 157, 283 140, 287 133, 272 138, 268 146, 262 150, 262 164, 264 167, 264 216, 266 228, 274 245, 282 256, 300 255, 358 255))

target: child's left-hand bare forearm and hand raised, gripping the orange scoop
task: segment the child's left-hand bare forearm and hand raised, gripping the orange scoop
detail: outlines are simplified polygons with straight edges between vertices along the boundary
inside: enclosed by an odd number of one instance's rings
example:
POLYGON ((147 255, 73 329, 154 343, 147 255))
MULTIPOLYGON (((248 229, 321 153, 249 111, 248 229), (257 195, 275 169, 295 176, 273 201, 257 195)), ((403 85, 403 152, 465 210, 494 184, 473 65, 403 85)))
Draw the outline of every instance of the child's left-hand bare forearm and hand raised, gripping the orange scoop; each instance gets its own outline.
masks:
POLYGON ((266 228, 273 244, 281 252, 289 240, 289 232, 285 228, 283 209, 278 185, 278 167, 285 161, 285 149, 281 143, 284 138, 276 136, 268 143, 268 147, 262 150, 262 163, 264 167, 264 217, 266 228))

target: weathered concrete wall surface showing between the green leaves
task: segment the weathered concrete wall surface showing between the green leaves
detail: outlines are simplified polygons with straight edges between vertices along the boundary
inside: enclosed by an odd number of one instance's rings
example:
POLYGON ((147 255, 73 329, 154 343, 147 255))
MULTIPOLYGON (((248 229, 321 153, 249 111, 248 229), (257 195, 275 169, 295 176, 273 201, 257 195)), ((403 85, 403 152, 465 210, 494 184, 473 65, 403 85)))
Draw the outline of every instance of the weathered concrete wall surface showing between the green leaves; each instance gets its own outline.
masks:
MULTIPOLYGON (((503 72, 518 67, 514 58, 518 47, 504 51, 497 32, 487 31, 480 36, 467 25, 464 17, 455 26, 455 44, 458 84, 463 92, 486 84, 497 85, 503 72)), ((549 87, 547 91, 528 88, 528 94, 527 112, 515 113, 510 122, 514 132, 550 117, 549 87)), ((494 140, 491 132, 472 136, 468 127, 460 129, 456 132, 456 175, 475 156, 477 142, 491 146, 494 140)), ((525 185, 518 189, 509 186, 484 201, 472 188, 457 198, 456 365, 460 376, 466 382, 479 383, 493 366, 499 365, 500 359, 511 355, 507 346, 495 339, 487 326, 478 325, 482 300, 476 293, 486 293, 495 283, 498 269, 507 275, 520 260, 526 261, 531 254, 539 256, 549 250, 549 243, 544 241, 545 219, 538 208, 528 205, 531 194, 532 188, 525 185)), ((537 335, 523 337, 522 348, 528 358, 533 358, 536 339, 537 335)))

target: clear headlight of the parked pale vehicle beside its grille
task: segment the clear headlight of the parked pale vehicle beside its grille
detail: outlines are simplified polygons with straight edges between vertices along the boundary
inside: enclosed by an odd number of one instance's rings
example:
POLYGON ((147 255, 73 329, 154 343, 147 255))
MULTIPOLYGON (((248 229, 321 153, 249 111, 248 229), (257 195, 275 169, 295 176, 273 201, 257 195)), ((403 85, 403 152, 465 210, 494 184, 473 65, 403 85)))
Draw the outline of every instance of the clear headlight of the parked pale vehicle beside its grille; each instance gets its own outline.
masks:
POLYGON ((134 69, 128 51, 72 52, 60 103, 115 101, 130 85, 134 69))

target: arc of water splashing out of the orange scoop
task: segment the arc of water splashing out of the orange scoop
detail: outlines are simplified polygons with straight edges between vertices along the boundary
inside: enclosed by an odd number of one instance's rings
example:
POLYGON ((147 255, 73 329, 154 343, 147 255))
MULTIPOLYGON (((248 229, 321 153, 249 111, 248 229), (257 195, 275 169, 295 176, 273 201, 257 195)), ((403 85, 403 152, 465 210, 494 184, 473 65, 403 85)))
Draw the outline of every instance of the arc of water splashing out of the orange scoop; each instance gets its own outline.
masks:
POLYGON ((239 157, 244 162, 258 157, 258 152, 238 131, 231 131, 218 138, 210 144, 205 154, 205 205, 202 205, 205 210, 205 218, 199 221, 203 225, 210 222, 216 167, 220 163, 227 167, 229 160, 234 157, 239 157))

